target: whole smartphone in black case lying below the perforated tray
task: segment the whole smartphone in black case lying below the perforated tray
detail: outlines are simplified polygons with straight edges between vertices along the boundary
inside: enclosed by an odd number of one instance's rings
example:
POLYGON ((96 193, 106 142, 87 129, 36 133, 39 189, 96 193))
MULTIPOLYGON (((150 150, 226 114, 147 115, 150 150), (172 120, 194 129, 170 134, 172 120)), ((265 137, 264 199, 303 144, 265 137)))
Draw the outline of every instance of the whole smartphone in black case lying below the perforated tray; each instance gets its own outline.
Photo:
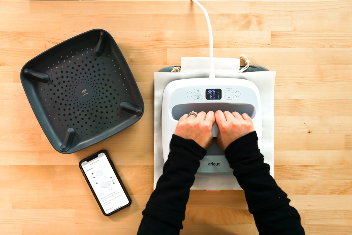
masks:
POLYGON ((105 216, 131 205, 131 198, 105 150, 83 159, 79 166, 105 216))

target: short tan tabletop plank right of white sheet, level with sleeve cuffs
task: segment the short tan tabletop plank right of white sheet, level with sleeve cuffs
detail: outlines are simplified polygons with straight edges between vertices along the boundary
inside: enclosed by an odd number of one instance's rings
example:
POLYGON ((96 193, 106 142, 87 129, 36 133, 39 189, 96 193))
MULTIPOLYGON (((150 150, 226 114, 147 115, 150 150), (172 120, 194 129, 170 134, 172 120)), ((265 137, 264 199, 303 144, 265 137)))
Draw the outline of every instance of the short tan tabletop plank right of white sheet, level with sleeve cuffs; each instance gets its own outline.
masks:
POLYGON ((277 134, 276 150, 344 150, 344 134, 277 134))

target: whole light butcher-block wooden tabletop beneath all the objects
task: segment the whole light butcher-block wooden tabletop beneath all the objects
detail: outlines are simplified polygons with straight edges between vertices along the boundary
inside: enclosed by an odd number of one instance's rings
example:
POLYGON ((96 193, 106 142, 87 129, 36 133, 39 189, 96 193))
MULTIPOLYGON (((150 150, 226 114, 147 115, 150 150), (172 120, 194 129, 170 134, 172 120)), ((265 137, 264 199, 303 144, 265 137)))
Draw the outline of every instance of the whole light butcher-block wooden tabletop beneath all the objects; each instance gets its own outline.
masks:
MULTIPOLYGON (((276 70, 275 179, 306 234, 352 234, 352 4, 201 1, 214 56, 276 70)), ((136 234, 153 191, 153 72, 208 56, 191 1, 0 2, 0 234, 136 234), (32 57, 79 33, 112 34, 145 102, 130 128, 74 154, 55 151, 20 83, 32 57), (78 162, 106 149, 133 203, 102 215, 78 162)), ((258 234, 243 191, 191 191, 181 234, 258 234)))

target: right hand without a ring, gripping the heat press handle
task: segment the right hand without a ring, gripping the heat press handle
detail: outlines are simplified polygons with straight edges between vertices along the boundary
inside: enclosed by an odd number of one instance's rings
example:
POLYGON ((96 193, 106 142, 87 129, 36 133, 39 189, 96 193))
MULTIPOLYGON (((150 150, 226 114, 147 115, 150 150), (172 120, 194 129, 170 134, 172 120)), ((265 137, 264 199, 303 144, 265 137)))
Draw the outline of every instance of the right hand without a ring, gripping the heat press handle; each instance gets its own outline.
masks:
POLYGON ((215 143, 224 151, 233 141, 254 131, 252 119, 247 113, 240 115, 238 112, 218 110, 215 112, 215 121, 219 128, 215 143))

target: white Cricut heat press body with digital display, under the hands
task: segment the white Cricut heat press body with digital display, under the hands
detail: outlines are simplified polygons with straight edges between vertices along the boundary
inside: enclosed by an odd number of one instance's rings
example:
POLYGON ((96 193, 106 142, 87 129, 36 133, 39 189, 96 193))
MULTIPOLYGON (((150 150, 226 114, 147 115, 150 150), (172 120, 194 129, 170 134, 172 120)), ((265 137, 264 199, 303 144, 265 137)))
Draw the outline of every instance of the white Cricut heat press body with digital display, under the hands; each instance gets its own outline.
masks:
MULTIPOLYGON (((260 148, 262 140, 262 110, 257 86, 245 79, 192 78, 170 82, 164 89, 162 105, 162 147, 164 162, 170 152, 170 141, 180 117, 191 111, 237 111, 247 113, 253 120, 260 148)), ((214 123, 213 137, 218 135, 214 123)), ((232 175, 225 153, 215 142, 200 161, 197 176, 232 175)))

